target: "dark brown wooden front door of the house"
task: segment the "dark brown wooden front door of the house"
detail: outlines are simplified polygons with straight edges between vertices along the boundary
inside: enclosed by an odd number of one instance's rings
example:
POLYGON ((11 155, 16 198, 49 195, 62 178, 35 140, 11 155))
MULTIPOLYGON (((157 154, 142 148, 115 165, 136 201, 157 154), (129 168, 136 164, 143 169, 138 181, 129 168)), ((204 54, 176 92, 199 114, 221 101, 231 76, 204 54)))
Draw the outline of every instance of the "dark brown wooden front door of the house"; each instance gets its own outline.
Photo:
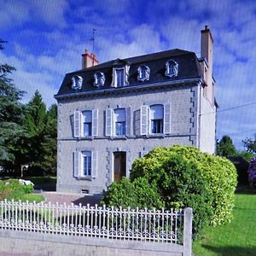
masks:
POLYGON ((126 152, 113 152, 113 181, 126 176, 126 152))

